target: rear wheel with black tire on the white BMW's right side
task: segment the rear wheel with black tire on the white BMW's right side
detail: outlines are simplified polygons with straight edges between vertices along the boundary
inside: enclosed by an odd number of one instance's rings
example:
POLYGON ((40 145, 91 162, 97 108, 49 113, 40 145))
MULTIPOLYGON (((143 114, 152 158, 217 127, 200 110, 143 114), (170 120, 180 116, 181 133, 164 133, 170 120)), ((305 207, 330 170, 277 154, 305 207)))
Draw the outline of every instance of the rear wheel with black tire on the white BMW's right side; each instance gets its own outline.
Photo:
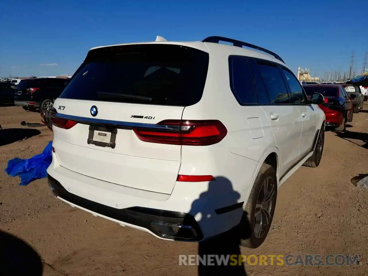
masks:
MULTIPOLYGON (((243 216, 242 219, 247 219, 248 223, 241 222, 240 225, 247 225, 250 229, 242 229, 242 231, 247 231, 249 233, 247 239, 241 239, 240 245, 248 248, 257 248, 259 247, 263 241, 265 241, 268 231, 270 229, 273 214, 275 213, 275 206, 276 206, 276 198, 277 198, 277 178, 276 178, 276 171, 275 169, 270 166, 269 164, 262 164, 261 170, 259 170, 259 173, 255 179, 254 185, 252 187, 251 193, 249 195, 247 204, 244 208, 244 213, 247 214, 246 216, 243 216), (257 201, 259 202, 261 199, 259 198, 259 195, 262 197, 264 196, 264 185, 265 181, 269 181, 269 197, 270 200, 267 203, 266 208, 263 208, 263 205, 259 208, 259 214, 262 214, 264 216, 264 219, 268 217, 268 224, 260 227, 260 230, 258 235, 255 233, 255 231, 258 230, 258 227, 256 226, 256 222, 258 220, 255 219, 255 211, 256 211, 256 205, 259 206, 257 201), (265 210, 267 209, 267 210, 265 210), (263 210, 263 212, 262 212, 263 210)), ((261 220, 262 221, 262 220, 261 220)))

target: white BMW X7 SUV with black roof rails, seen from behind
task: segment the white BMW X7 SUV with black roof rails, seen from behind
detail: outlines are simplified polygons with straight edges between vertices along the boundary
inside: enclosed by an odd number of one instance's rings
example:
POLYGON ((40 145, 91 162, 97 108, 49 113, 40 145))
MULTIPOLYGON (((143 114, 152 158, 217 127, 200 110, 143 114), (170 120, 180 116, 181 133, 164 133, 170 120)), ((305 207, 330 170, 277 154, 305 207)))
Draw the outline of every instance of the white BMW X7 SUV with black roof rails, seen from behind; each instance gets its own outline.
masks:
POLYGON ((323 96, 308 99, 261 47, 158 38, 88 52, 54 102, 49 185, 67 204, 166 240, 247 225, 241 244, 256 248, 280 185, 319 165, 323 96))

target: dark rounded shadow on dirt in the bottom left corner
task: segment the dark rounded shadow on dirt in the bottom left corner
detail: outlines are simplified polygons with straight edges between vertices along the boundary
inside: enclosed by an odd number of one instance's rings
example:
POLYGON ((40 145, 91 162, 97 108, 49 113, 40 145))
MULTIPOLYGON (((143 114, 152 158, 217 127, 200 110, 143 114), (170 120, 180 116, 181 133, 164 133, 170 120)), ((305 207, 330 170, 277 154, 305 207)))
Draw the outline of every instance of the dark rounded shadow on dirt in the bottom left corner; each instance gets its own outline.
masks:
POLYGON ((0 275, 42 276, 42 272, 38 253, 25 241, 0 230, 0 275))

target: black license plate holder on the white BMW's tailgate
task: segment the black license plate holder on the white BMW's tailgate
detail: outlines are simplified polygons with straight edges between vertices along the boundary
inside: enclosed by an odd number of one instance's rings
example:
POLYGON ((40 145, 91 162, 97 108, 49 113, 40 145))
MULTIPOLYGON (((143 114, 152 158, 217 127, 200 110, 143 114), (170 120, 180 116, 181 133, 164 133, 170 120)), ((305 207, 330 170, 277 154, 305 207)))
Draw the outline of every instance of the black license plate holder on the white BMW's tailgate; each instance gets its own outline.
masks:
POLYGON ((116 146, 116 134, 117 128, 102 125, 90 125, 87 144, 114 149, 116 146))

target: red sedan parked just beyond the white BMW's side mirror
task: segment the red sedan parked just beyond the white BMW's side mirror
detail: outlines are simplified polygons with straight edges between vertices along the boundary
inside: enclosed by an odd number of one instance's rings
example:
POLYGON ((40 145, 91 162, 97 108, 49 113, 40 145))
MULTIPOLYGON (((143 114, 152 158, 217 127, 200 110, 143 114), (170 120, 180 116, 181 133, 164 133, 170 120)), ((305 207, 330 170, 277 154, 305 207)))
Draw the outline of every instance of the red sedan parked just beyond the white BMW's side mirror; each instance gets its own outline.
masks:
POLYGON ((306 84, 303 85, 308 97, 312 92, 318 92, 325 97, 325 103, 319 107, 325 112, 326 126, 336 128, 336 131, 345 131, 346 122, 353 121, 353 102, 341 85, 333 84, 306 84))

